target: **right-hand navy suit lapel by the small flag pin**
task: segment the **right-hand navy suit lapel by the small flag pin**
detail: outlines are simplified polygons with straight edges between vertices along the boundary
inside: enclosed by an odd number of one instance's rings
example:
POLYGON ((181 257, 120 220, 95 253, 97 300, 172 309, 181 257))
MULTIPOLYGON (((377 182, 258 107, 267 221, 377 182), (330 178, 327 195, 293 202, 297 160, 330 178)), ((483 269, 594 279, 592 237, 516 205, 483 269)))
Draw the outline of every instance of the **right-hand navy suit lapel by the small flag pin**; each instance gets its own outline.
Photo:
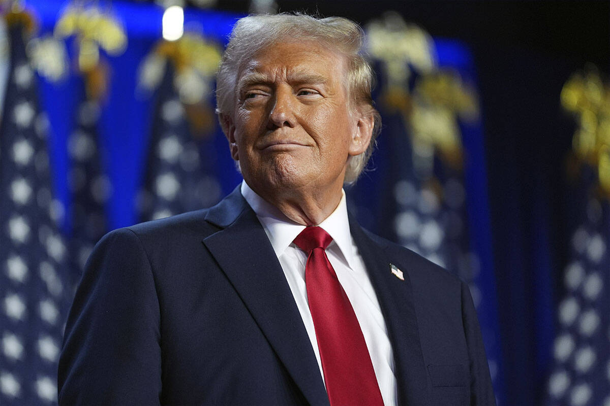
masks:
POLYGON ((390 273, 386 247, 373 241, 350 215, 350 231, 367 266, 394 354, 398 404, 428 405, 426 366, 417 327, 411 281, 404 270, 404 281, 390 273))

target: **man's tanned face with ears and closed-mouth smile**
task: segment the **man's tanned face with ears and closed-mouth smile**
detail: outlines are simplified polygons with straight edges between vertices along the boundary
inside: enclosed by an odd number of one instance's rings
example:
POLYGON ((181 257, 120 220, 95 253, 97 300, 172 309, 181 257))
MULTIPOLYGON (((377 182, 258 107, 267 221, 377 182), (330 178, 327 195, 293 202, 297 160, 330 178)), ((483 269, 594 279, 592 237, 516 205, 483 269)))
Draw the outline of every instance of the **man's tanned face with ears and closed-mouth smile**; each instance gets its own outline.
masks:
POLYGON ((365 151, 372 119, 348 110, 345 58, 307 42, 278 43, 238 74, 231 155, 259 194, 340 192, 350 155, 365 151))

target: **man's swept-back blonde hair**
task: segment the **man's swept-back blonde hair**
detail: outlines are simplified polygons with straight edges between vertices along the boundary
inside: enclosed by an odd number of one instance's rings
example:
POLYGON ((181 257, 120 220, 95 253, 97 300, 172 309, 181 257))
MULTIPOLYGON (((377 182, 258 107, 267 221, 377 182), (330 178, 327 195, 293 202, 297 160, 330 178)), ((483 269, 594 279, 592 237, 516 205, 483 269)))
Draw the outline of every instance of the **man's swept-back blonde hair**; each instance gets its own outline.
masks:
MULTIPOLYGON (((364 170, 373 153, 375 139, 381 130, 381 116, 371 98, 375 80, 373 69, 361 55, 364 32, 353 21, 342 17, 315 18, 301 13, 252 15, 240 18, 231 32, 217 74, 216 113, 234 116, 237 100, 237 74, 242 63, 263 47, 283 41, 314 40, 340 52, 346 58, 346 89, 350 109, 373 116, 373 136, 365 152, 351 156, 345 172, 345 183, 353 183, 364 170)), ((222 122, 221 122, 222 124, 222 122)), ((223 126, 224 130, 224 126, 223 126)))

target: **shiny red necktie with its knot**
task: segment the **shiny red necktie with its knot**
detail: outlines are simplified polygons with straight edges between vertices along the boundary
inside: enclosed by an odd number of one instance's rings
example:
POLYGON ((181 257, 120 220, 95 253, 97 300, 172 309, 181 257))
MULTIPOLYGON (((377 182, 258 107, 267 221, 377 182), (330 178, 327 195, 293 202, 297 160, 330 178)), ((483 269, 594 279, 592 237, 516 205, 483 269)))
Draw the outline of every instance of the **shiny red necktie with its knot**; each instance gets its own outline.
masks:
POLYGON ((383 405, 367 344, 350 299, 326 256, 331 236, 307 227, 295 244, 309 256, 305 285, 331 406, 383 405))

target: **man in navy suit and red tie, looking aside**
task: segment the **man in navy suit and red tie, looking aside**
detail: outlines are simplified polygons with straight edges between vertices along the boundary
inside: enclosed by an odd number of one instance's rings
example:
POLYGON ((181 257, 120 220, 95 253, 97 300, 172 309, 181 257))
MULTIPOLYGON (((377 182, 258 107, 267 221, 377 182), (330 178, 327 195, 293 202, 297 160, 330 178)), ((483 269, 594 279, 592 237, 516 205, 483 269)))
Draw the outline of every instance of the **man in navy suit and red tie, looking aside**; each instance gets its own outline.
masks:
POLYGON ((343 18, 240 19, 217 94, 244 182, 99 242, 60 404, 495 404, 467 287, 346 210, 379 129, 361 45, 343 18))

